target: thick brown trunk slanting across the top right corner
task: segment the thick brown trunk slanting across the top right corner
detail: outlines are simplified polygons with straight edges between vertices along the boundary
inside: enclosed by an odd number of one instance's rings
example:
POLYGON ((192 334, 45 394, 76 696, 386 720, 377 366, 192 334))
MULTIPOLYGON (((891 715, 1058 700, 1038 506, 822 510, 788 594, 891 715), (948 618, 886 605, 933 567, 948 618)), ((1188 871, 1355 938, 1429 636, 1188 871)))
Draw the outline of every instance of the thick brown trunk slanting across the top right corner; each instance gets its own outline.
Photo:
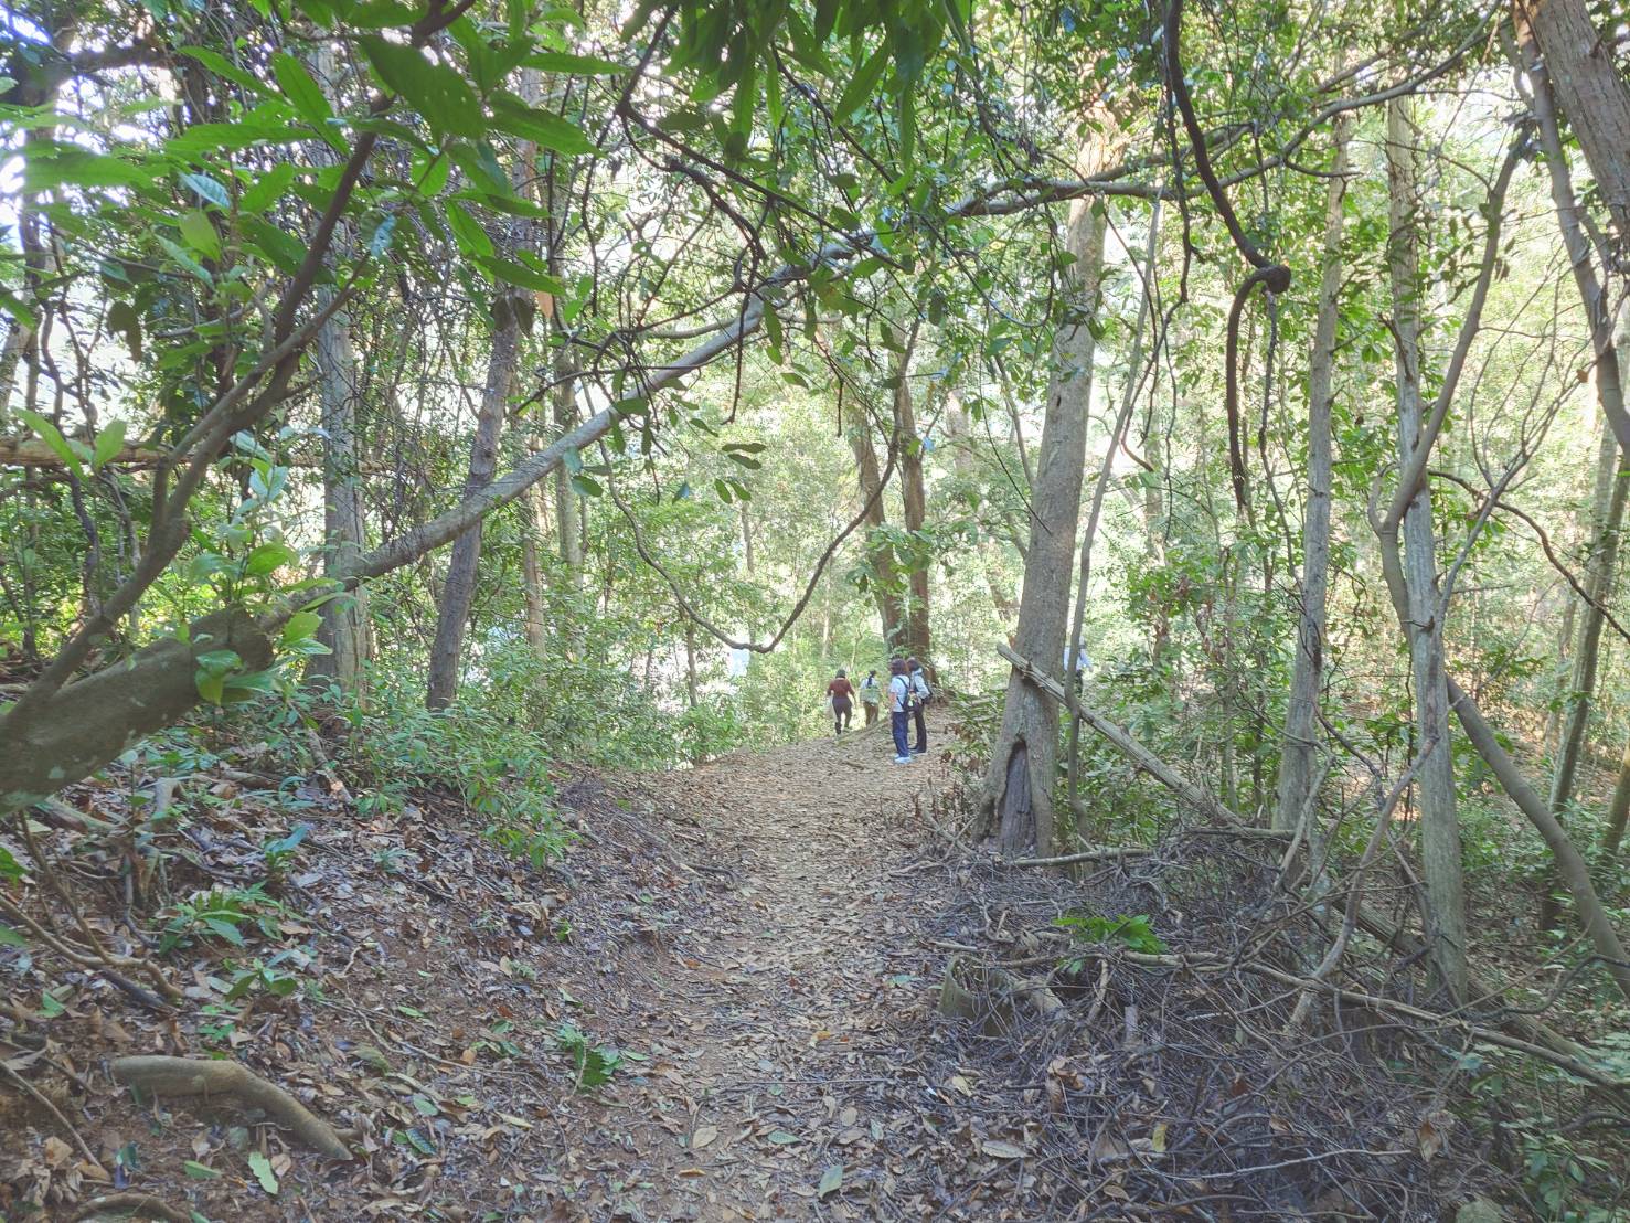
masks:
MULTIPOLYGON (((1619 233, 1630 241, 1630 83, 1614 64, 1584 0, 1516 0, 1518 38, 1532 39, 1555 85, 1557 101, 1573 127, 1596 189, 1619 233)), ((1620 447, 1630 440, 1620 435, 1620 447)))

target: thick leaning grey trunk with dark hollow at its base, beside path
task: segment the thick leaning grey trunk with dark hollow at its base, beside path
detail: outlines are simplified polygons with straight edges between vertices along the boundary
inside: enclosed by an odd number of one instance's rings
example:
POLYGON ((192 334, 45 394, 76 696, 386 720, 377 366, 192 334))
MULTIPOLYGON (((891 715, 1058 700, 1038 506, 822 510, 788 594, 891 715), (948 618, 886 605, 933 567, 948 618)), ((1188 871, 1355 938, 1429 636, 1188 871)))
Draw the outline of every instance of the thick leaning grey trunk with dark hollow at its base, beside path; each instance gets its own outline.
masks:
MULTIPOLYGON (((1104 219, 1092 201, 1071 205, 1066 243, 1071 256, 1064 285, 1066 313, 1053 341, 1055 370, 1030 492, 1030 546, 1014 633, 1017 654, 1060 670, 1069 628, 1069 585, 1087 457, 1095 347, 1090 323, 1104 274, 1104 219)), ((986 823, 999 825, 1004 854, 1032 851, 1046 858, 1055 851, 1056 781, 1058 701, 1014 669, 1007 677, 1002 724, 991 745, 983 801, 986 823)))

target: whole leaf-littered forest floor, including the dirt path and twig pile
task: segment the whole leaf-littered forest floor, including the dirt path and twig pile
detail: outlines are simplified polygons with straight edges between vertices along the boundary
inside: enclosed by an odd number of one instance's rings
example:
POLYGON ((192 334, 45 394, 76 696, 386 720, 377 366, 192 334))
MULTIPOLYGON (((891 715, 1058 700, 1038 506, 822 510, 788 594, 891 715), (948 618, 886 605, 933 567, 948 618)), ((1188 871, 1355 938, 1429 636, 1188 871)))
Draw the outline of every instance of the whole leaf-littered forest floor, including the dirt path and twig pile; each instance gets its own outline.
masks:
MULTIPOLYGON (((7 1223, 129 1216, 88 1203, 132 1192, 181 1220, 1430 1220, 1501 1182, 1392 1018, 1286 1039, 1294 990, 1134 959, 1294 934, 1252 926, 1273 846, 1002 869, 957 832, 944 753, 896 766, 879 731, 562 778, 572 840, 536 861, 448 794, 370 815, 323 770, 225 755, 176 788, 163 890, 243 916, 166 952, 181 1008, 0 949, 29 1013, 0 1018, 7 1223), (310 833, 269 871, 292 807, 310 833), (937 1013, 958 957, 993 974, 975 1022, 937 1013), (132 1053, 236 1057, 359 1158, 139 1102, 108 1070, 132 1053)), ((119 823, 148 789, 72 801, 119 823)), ((129 846, 37 837, 129 944, 129 846)))

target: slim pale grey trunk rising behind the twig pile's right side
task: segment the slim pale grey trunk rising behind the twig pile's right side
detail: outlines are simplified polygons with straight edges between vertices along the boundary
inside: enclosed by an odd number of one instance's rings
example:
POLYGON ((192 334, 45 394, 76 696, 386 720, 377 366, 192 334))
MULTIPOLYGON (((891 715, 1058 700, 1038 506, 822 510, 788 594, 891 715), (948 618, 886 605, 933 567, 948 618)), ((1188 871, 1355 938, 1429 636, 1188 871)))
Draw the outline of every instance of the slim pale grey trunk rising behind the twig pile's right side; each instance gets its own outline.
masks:
MULTIPOLYGON (((1389 240, 1399 396, 1399 468, 1408 471, 1421 439, 1420 253, 1416 249, 1415 132, 1410 104, 1387 103, 1389 240)), ((1443 620, 1438 615, 1438 554, 1431 486, 1421 479, 1403 512, 1405 633, 1415 682, 1416 765, 1421 866, 1426 877, 1426 936, 1443 983, 1465 995, 1465 884, 1456 814, 1454 757, 1449 742, 1449 690, 1444 673, 1443 620)))

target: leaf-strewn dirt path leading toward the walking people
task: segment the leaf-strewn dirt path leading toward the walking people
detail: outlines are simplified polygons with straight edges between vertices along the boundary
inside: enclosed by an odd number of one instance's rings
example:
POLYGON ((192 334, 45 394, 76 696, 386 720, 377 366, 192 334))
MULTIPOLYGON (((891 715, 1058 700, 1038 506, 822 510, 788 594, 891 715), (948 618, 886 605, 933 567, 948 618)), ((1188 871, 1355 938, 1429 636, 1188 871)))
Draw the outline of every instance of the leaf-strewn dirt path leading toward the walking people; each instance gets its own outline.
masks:
POLYGON ((711 926, 652 975, 645 1027, 621 1034, 652 1063, 608 1115, 632 1172, 613 1216, 906 1213, 892 1031, 921 1029, 932 987, 901 879, 914 802, 947 779, 937 757, 895 765, 875 731, 675 778, 738 861, 711 926))

